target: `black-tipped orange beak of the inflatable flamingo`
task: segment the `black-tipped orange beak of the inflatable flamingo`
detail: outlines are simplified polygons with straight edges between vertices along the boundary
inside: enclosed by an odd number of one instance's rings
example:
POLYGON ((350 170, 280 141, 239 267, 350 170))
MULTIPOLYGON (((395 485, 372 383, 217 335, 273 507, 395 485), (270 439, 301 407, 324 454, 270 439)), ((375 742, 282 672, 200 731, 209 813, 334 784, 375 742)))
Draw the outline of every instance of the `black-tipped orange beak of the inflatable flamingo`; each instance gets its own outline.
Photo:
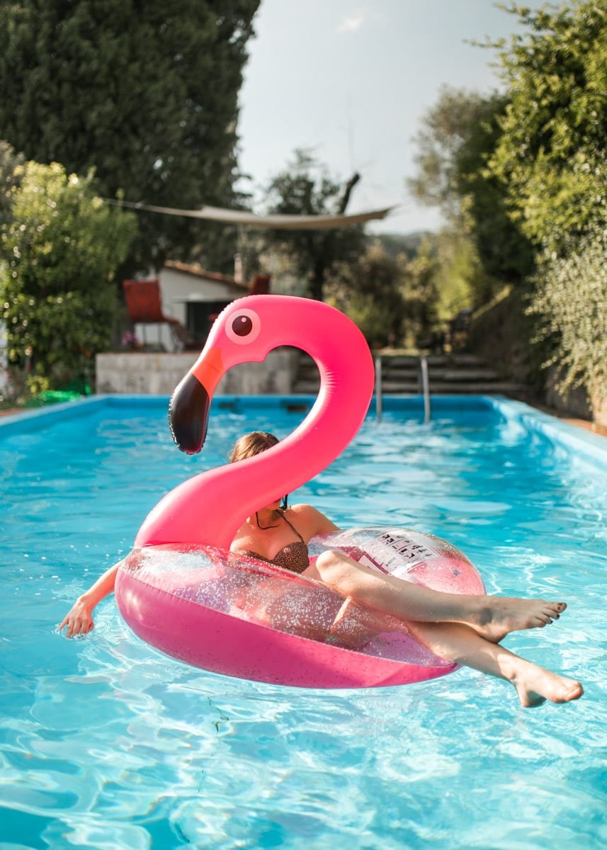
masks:
POLYGON ((219 348, 210 348, 179 382, 168 405, 173 440, 181 451, 196 455, 207 436, 213 390, 224 374, 219 348))

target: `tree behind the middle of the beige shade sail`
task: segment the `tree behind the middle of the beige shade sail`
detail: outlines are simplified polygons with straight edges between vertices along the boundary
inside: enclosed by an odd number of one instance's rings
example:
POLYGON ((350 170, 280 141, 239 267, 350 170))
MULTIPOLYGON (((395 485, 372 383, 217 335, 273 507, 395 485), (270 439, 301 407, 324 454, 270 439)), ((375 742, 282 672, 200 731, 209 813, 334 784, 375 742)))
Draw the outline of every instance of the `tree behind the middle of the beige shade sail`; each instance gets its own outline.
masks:
MULTIPOLYGON (((295 215, 340 215, 360 175, 346 184, 332 178, 309 151, 296 150, 295 161, 277 174, 266 190, 268 212, 295 215)), ((308 282, 310 297, 322 301, 329 276, 355 258, 364 246, 361 227, 331 230, 269 230, 266 242, 292 258, 308 282)))

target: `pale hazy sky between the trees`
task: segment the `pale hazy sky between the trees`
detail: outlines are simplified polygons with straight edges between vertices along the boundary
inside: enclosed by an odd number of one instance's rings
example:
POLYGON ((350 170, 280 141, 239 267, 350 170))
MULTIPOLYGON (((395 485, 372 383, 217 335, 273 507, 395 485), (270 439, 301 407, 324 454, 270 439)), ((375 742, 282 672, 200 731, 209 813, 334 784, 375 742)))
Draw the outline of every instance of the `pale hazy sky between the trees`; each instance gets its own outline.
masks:
POLYGON ((414 137, 445 84, 500 88, 495 51, 469 42, 508 37, 517 18, 492 0, 262 0, 254 27, 238 129, 252 179, 241 186, 259 197, 310 149, 344 181, 360 172, 348 212, 398 207, 372 232, 437 229, 440 212, 406 189, 414 137))

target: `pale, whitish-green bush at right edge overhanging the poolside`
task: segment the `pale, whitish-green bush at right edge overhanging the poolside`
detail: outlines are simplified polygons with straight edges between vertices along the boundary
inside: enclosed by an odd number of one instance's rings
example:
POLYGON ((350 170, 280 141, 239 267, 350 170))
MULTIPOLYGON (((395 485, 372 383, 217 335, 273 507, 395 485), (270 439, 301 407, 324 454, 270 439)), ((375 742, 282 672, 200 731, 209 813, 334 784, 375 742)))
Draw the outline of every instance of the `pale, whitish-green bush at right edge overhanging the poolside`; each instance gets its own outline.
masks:
POLYGON ((565 257, 546 252, 529 312, 542 341, 553 343, 562 375, 559 390, 585 385, 591 399, 607 399, 607 229, 593 228, 565 257))

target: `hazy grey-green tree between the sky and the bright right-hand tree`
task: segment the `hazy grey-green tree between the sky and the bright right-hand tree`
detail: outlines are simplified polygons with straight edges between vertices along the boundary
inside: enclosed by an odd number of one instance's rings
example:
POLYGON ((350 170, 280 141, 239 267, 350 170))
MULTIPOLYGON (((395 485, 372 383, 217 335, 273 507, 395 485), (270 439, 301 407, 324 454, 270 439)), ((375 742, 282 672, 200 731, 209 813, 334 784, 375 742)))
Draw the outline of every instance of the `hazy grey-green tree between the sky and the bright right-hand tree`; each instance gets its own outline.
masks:
POLYGON ((420 201, 442 208, 451 235, 459 230, 472 242, 484 272, 479 301, 534 268, 530 241, 509 214, 507 187, 486 167, 507 104, 502 94, 443 88, 417 134, 417 175, 409 181, 420 201))

